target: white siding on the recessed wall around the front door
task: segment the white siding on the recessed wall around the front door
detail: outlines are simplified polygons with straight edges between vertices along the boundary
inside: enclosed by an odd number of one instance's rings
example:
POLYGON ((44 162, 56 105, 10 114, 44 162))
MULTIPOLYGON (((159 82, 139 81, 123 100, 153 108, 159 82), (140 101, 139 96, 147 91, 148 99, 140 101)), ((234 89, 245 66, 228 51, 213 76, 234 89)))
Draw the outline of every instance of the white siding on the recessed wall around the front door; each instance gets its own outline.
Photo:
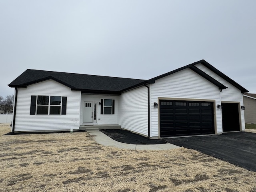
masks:
POLYGON ((98 125, 106 125, 106 124, 118 124, 118 97, 119 96, 111 96, 111 95, 81 95, 81 110, 80 110, 80 124, 83 123, 83 114, 84 114, 84 102, 97 102, 97 124, 98 125), (114 99, 115 100, 115 114, 114 115, 103 115, 100 114, 100 105, 101 99, 114 99), (100 119, 100 120, 98 120, 100 119))

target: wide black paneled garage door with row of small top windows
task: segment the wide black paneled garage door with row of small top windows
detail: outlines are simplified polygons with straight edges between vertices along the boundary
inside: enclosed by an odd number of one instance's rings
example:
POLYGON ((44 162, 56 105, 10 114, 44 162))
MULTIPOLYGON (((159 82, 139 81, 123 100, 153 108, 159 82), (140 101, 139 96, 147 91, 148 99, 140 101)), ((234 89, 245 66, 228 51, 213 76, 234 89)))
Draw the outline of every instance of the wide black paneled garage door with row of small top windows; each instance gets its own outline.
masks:
POLYGON ((213 102, 160 100, 160 137, 214 134, 213 102))

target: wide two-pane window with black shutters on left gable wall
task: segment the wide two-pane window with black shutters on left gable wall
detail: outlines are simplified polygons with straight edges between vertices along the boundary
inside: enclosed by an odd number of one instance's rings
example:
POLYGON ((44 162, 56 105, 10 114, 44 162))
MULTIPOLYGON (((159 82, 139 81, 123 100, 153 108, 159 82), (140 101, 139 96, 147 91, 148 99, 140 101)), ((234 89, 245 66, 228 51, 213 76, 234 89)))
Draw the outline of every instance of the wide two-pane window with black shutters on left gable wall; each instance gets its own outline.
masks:
POLYGON ((66 115, 67 97, 31 96, 30 115, 66 115))

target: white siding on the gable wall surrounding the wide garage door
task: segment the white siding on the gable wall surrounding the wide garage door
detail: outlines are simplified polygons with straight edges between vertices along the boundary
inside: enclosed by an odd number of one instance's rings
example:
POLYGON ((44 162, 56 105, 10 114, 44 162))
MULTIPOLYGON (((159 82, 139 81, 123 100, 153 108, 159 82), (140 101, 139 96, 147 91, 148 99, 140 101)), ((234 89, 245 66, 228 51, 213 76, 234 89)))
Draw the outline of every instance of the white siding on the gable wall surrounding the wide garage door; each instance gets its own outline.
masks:
MULTIPOLYGON (((158 136, 158 109, 154 108, 154 102, 158 98, 215 100, 220 104, 220 90, 217 86, 196 74, 190 69, 184 69, 164 78, 156 80, 150 85, 150 110, 151 110, 151 136, 158 136)), ((214 106, 216 108, 216 106, 214 106)), ((216 110, 217 132, 222 132, 221 112, 216 110)))

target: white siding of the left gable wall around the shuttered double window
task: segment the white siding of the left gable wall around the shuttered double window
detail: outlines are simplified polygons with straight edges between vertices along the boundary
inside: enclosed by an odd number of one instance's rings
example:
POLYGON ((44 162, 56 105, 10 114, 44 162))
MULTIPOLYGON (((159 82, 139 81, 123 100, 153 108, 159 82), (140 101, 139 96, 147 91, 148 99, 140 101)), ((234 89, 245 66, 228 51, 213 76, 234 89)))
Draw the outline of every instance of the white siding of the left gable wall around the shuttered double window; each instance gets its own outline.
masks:
POLYGON ((71 91, 54 80, 18 88, 14 131, 66 130, 79 128, 80 91, 71 91), (66 96, 66 115, 30 115, 32 95, 66 96))

